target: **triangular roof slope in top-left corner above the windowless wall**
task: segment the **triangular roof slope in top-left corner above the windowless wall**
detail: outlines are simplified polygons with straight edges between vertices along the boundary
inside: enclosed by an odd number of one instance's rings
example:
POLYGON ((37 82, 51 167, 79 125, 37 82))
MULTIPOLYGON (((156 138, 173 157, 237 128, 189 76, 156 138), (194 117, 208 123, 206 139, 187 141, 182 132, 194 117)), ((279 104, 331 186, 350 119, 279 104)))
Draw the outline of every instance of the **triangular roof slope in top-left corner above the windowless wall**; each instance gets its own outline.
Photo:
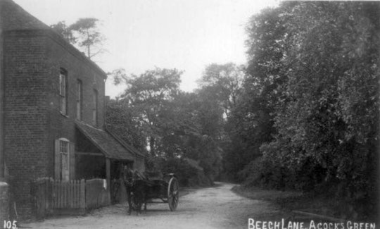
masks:
POLYGON ((46 30, 49 26, 34 18, 12 0, 0 0, 3 30, 46 30))

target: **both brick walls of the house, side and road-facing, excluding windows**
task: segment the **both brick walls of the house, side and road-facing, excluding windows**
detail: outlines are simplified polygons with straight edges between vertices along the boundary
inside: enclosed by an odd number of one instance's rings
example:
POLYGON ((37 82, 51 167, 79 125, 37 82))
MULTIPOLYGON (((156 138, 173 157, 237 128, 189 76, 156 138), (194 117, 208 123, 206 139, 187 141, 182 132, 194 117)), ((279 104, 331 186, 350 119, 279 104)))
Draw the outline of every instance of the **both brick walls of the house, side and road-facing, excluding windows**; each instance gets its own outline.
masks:
POLYGON ((7 32, 4 38, 5 161, 20 216, 31 214, 30 181, 54 176, 54 140, 75 142, 77 80, 82 81, 82 120, 92 125, 93 93, 103 128, 101 72, 47 30, 7 32), (60 112, 59 73, 68 72, 68 114, 60 112))

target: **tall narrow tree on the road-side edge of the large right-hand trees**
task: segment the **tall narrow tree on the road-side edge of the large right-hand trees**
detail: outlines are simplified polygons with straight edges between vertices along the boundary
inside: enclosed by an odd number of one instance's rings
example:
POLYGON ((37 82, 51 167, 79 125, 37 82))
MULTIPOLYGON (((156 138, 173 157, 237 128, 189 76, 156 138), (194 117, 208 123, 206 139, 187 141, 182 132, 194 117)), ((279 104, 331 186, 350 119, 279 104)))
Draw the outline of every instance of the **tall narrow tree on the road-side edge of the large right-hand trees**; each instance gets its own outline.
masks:
POLYGON ((286 80, 281 63, 286 51, 286 17, 279 9, 266 9, 247 25, 248 66, 238 103, 232 109, 225 130, 230 143, 224 147, 224 169, 229 178, 241 181, 239 171, 260 156, 262 143, 271 142, 277 87, 286 80), (231 176, 232 175, 232 176, 231 176))

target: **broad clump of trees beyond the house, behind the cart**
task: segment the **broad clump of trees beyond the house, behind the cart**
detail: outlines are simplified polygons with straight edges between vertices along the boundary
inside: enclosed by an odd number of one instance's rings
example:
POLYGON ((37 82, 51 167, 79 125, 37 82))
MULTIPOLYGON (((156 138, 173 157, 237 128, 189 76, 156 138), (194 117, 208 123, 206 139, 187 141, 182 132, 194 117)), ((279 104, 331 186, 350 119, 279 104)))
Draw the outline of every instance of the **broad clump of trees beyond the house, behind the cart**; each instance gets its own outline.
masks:
MULTIPOLYGON (((181 74, 176 69, 156 68, 129 76, 125 70, 114 70, 114 82, 127 86, 118 98, 119 103, 125 104, 120 113, 129 114, 132 122, 122 123, 122 116, 118 115, 115 123, 122 124, 120 130, 133 123, 139 126, 139 130, 132 131, 140 132, 141 145, 148 142, 148 167, 165 170, 155 168, 154 161, 187 158, 196 161, 204 178, 212 182, 221 169, 217 129, 222 110, 199 94, 181 92, 181 74)), ((112 118, 112 112, 108 116, 112 118)))

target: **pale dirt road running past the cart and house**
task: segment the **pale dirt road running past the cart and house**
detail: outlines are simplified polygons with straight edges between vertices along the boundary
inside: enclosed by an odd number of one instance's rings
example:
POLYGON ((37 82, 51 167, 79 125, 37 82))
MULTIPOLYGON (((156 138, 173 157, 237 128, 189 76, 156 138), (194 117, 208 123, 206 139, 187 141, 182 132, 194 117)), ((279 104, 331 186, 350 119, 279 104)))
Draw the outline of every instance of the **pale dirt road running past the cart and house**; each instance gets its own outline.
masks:
MULTIPOLYGON (((248 218, 258 220, 281 216, 276 206, 246 199, 231 191, 232 184, 194 190, 179 199, 177 211, 167 204, 148 204, 148 211, 127 215, 127 206, 117 204, 87 216, 51 218, 20 225, 23 228, 248 228, 248 218)), ((277 218, 276 217, 276 218, 277 218)))

